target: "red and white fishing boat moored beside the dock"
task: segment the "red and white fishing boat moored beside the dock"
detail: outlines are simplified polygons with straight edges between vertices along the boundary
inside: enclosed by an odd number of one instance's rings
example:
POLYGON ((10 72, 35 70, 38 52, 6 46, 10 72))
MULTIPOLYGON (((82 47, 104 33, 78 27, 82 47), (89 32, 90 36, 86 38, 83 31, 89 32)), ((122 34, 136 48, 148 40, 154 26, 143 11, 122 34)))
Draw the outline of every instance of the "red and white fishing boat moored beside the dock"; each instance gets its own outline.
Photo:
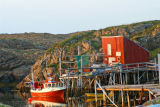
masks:
POLYGON ((50 74, 47 80, 32 82, 32 97, 63 97, 66 87, 60 86, 60 82, 54 81, 50 74))

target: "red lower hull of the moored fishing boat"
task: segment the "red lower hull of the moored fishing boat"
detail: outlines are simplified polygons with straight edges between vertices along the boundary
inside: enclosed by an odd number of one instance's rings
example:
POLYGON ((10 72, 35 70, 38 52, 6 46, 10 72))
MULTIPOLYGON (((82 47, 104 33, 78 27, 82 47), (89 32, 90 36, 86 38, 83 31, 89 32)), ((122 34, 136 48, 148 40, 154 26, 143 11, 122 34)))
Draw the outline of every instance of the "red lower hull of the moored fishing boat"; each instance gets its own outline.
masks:
POLYGON ((57 90, 51 92, 31 92, 32 97, 63 97, 65 90, 57 90))

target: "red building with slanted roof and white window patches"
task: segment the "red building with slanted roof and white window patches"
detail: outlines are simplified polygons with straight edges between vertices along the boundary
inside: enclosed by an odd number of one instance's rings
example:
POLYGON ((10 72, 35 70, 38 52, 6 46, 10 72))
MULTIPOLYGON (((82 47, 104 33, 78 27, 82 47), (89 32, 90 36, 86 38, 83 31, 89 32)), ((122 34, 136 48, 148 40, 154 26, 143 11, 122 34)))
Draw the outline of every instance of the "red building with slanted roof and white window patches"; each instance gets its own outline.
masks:
POLYGON ((105 64, 149 62, 149 52, 123 36, 102 37, 105 64))

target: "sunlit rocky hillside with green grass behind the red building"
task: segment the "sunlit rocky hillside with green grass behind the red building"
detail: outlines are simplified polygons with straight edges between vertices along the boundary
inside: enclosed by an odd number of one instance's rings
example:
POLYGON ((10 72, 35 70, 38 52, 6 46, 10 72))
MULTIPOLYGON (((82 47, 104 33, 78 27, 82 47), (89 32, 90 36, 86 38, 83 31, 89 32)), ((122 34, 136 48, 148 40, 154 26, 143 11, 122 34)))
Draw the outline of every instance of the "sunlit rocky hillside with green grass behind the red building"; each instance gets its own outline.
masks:
MULTIPOLYGON (((102 36, 122 35, 130 38, 139 45, 145 47, 151 52, 151 58, 155 57, 160 51, 160 21, 147 21, 134 23, 130 25, 113 26, 100 30, 76 32, 73 36, 54 44, 50 47, 33 65, 35 80, 43 80, 46 78, 46 71, 54 74, 54 78, 59 76, 59 57, 62 56, 62 61, 75 61, 74 56, 78 53, 92 54, 90 61, 96 62, 101 58, 95 57, 94 54, 102 53, 102 36), (80 49, 78 50, 78 45, 80 49)), ((62 68, 76 67, 76 63, 62 64, 62 68)), ((66 72, 65 70, 62 71, 66 72)), ((24 85, 25 81, 31 80, 31 74, 27 75, 23 82, 17 87, 24 85)))

